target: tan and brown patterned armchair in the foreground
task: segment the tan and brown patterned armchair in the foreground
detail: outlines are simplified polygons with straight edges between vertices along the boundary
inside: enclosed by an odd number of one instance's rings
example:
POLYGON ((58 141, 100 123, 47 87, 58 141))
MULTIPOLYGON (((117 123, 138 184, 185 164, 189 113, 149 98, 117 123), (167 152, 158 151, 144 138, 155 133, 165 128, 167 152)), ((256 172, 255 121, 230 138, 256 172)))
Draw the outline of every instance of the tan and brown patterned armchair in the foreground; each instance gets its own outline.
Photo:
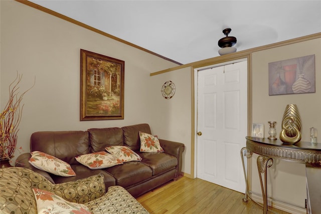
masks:
POLYGON ((66 207, 79 208, 70 213, 148 213, 121 186, 110 186, 105 193, 102 174, 53 184, 30 169, 9 167, 0 169, 0 192, 0 213, 38 213, 44 211, 40 202, 53 203, 53 198, 60 199, 56 204, 46 204, 45 209, 50 209, 51 213, 59 213, 66 207), (48 192, 49 196, 43 192, 48 192))

